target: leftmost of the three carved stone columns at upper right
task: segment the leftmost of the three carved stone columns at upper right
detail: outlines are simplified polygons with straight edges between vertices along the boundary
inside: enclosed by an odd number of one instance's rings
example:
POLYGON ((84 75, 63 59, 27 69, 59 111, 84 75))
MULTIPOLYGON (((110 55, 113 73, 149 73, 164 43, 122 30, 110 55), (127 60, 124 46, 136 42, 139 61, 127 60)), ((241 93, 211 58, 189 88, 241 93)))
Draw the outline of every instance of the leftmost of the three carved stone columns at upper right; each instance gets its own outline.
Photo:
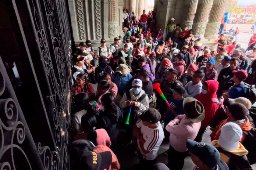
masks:
POLYGON ((196 12, 196 6, 197 6, 198 0, 186 0, 185 1, 185 17, 183 25, 184 27, 188 27, 189 29, 192 28, 193 20, 195 18, 195 12, 196 12))

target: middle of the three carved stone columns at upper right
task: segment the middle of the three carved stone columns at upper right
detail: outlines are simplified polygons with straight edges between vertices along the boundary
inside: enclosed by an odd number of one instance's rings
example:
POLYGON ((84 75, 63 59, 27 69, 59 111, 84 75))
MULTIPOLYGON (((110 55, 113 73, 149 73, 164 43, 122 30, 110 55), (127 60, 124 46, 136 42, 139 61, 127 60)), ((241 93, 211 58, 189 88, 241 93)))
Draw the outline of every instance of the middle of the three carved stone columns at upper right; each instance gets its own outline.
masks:
POLYGON ((199 0, 192 30, 195 37, 205 35, 207 19, 211 10, 213 0, 199 0))

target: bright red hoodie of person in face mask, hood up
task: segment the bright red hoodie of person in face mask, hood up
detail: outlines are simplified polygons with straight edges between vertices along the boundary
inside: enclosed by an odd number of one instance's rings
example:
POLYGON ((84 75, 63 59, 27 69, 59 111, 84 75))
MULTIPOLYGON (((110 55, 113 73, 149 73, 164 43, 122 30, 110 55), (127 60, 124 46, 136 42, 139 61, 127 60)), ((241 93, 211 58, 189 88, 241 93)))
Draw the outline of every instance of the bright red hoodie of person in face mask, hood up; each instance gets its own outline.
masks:
POLYGON ((208 85, 207 93, 200 93, 197 97, 197 100, 199 100, 205 108, 205 119, 202 121, 201 127, 208 126, 219 107, 219 105, 213 100, 213 98, 218 99, 216 95, 218 82, 216 80, 208 80, 205 81, 205 83, 208 85))

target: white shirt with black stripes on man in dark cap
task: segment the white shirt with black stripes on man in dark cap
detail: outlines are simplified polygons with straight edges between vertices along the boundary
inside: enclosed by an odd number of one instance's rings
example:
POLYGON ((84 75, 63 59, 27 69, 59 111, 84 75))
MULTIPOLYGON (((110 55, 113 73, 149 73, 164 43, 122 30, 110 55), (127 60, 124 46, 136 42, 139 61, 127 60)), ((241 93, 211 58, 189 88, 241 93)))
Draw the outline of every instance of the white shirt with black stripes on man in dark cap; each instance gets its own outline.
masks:
POLYGON ((160 122, 158 122, 158 127, 154 129, 145 126, 141 120, 136 124, 136 126, 138 128, 141 128, 141 134, 143 135, 143 139, 145 140, 143 147, 146 151, 148 151, 148 153, 146 154, 143 153, 141 146, 139 145, 139 140, 137 140, 137 144, 139 150, 141 151, 141 154, 145 156, 146 160, 156 159, 158 156, 160 145, 164 139, 164 131, 160 122))

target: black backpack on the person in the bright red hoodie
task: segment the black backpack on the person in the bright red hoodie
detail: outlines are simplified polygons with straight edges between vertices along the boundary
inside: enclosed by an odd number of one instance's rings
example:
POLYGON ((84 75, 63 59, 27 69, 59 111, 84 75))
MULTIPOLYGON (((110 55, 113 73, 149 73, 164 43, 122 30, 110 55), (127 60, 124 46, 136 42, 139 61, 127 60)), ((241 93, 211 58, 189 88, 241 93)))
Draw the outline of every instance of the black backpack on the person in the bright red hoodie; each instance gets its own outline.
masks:
POLYGON ((218 124, 224 120, 227 119, 228 116, 223 108, 223 106, 220 104, 220 102, 218 101, 217 98, 212 98, 211 99, 212 102, 217 103, 219 105, 215 115, 213 116, 213 119, 211 119, 211 122, 209 123, 209 126, 213 129, 216 128, 216 126, 218 126, 218 124))

